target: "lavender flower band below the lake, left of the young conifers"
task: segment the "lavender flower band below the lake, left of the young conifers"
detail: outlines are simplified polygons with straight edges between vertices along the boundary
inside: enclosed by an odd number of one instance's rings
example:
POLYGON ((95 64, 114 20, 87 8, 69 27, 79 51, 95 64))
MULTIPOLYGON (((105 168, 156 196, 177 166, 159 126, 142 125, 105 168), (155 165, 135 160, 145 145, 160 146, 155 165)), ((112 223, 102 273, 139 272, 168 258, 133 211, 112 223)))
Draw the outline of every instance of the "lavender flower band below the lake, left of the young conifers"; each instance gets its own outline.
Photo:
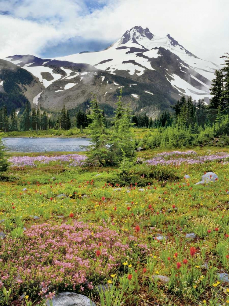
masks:
POLYGON ((83 166, 85 163, 86 155, 79 154, 66 154, 60 156, 14 156, 9 159, 11 166, 14 167, 36 167, 38 164, 49 164, 50 162, 60 162, 69 164, 69 166, 83 166))

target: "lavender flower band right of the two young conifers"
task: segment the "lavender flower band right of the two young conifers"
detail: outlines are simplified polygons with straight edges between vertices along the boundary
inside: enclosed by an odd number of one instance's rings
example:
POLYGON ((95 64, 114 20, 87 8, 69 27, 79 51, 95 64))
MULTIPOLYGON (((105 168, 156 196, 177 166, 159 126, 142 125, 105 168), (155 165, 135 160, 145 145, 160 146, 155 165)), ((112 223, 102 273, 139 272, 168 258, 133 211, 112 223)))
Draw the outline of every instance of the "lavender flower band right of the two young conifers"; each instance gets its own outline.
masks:
POLYGON ((205 162, 212 162, 214 160, 218 161, 226 161, 226 159, 229 158, 229 154, 225 152, 219 152, 212 155, 204 155, 204 156, 195 156, 195 158, 191 157, 191 155, 197 155, 195 151, 186 151, 186 152, 180 152, 180 151, 173 151, 173 152, 163 152, 157 154, 154 158, 145 160, 144 162, 151 166, 156 165, 174 165, 179 166, 181 163, 187 163, 187 164, 203 164, 205 162), (176 152, 176 156, 179 155, 189 155, 189 157, 180 157, 180 158, 171 158, 166 159, 170 156, 174 155, 174 152, 176 152), (190 153, 192 152, 192 153, 190 153))

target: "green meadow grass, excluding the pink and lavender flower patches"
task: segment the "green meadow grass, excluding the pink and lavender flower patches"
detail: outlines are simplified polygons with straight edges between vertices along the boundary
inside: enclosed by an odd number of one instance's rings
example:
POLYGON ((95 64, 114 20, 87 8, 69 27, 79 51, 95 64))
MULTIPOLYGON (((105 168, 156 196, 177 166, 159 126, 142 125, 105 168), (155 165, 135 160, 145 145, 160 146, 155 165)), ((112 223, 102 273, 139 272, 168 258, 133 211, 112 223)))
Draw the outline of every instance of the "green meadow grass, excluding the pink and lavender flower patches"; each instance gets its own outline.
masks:
MULTIPOLYGON (((142 135, 144 131, 140 133, 142 135)), ((210 150, 211 154, 229 151, 228 148, 216 147, 197 148, 196 151, 198 155, 205 155, 210 150)), ((147 159, 161 151, 143 151, 139 157, 147 159)), ((47 153, 57 154, 60 153, 47 153)), ((11 263, 12 258, 19 260, 21 246, 30 243, 20 228, 29 229, 44 224, 71 225, 80 221, 91 226, 94 233, 97 226, 115 231, 120 241, 130 246, 125 256, 120 252, 116 254, 121 257, 115 257, 117 267, 112 270, 112 275, 116 274, 114 277, 103 268, 99 278, 93 276, 99 260, 94 255, 96 260, 89 269, 92 275, 88 275, 88 278, 94 277, 93 285, 113 282, 112 291, 107 290, 98 297, 94 289, 85 288, 83 293, 79 287, 75 289, 75 292, 90 295, 97 306, 155 303, 174 306, 227 305, 229 284, 222 281, 217 283, 217 273, 229 271, 229 259, 226 257, 229 254, 229 238, 226 236, 229 234, 229 163, 184 163, 180 166, 152 168, 155 176, 160 171, 171 173, 172 180, 167 183, 157 181, 157 177, 143 177, 143 173, 149 173, 149 168, 138 165, 129 169, 133 187, 129 189, 129 186, 123 186, 121 191, 115 191, 116 186, 109 185, 109 182, 115 185, 122 181, 117 167, 69 168, 54 162, 36 168, 9 168, 5 175, 11 177, 12 181, 1 182, 0 189, 0 219, 5 219, 5 222, 0 223, 0 231, 8 235, 0 241, 0 256, 3 259, 0 261, 0 280, 6 273, 9 274, 9 279, 2 279, 2 282, 7 290, 12 288, 10 305, 25 305, 25 300, 18 302, 19 295, 24 291, 27 291, 29 301, 34 305, 39 298, 33 282, 23 280, 23 285, 15 285, 13 280, 16 270, 11 263), (213 171, 219 180, 208 185, 194 185, 205 171, 213 171), (188 181, 183 178, 185 174, 191 176, 188 181), (178 179, 173 178, 174 175, 178 179), (52 181, 54 176, 56 180, 52 181), (140 186, 143 186, 143 192, 139 191, 140 186), (23 188, 27 188, 27 191, 23 191, 23 188), (66 197, 56 198, 59 194, 65 194, 66 197), (70 214, 73 214, 72 218, 70 214), (38 216, 39 220, 34 220, 31 215, 38 216), (23 225, 21 222, 24 222, 23 225), (139 231, 136 226, 139 226, 139 231), (195 233, 196 238, 186 239, 187 233, 195 233), (168 239, 158 242, 153 239, 157 234, 167 236, 168 239), (16 237, 16 240, 10 241, 10 237, 16 237), (11 245, 9 255, 4 251, 4 245, 11 245), (193 257, 190 254, 191 247, 196 250, 193 257), (187 263, 183 263, 184 259, 187 259, 187 263), (127 265, 123 265, 125 262, 127 265), (180 268, 177 263, 181 263, 180 268), (128 275, 132 276, 130 280, 128 275), (167 276, 170 281, 167 284, 156 282, 153 275, 167 276)), ((64 258, 64 253, 61 256, 64 258)), ((81 256, 86 259, 88 255, 81 256)), ((63 291, 64 288, 54 278, 50 290, 63 291)), ((1 296, 4 304, 0 291, 0 300, 1 296)))

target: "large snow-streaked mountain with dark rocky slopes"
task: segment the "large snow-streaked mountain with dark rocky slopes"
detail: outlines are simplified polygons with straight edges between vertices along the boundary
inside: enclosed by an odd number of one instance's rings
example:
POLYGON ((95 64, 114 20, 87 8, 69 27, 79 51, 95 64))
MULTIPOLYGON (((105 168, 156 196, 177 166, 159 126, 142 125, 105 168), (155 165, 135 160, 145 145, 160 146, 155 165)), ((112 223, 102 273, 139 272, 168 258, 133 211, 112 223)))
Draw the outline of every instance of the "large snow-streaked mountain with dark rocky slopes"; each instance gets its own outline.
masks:
POLYGON ((34 99, 44 108, 75 107, 88 100, 90 92, 96 93, 100 103, 113 105, 122 87, 124 99, 152 117, 183 95, 208 101, 211 80, 219 68, 186 50, 169 34, 159 37, 142 27, 127 30, 100 52, 53 59, 15 55, 6 60, 31 72, 44 85, 34 99))

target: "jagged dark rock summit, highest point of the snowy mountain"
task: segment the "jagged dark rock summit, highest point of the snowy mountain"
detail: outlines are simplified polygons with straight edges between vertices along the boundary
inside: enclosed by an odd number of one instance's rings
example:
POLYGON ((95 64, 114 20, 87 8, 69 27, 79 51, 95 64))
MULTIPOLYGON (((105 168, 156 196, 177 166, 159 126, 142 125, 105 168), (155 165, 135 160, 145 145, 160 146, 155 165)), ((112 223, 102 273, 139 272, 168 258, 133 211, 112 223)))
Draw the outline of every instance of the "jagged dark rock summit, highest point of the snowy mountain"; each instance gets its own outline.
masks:
POLYGON ((150 32, 149 28, 142 28, 141 26, 135 26, 130 30, 127 30, 120 39, 120 44, 124 45, 125 43, 131 41, 136 42, 137 39, 146 37, 149 40, 154 38, 154 35, 150 32))

